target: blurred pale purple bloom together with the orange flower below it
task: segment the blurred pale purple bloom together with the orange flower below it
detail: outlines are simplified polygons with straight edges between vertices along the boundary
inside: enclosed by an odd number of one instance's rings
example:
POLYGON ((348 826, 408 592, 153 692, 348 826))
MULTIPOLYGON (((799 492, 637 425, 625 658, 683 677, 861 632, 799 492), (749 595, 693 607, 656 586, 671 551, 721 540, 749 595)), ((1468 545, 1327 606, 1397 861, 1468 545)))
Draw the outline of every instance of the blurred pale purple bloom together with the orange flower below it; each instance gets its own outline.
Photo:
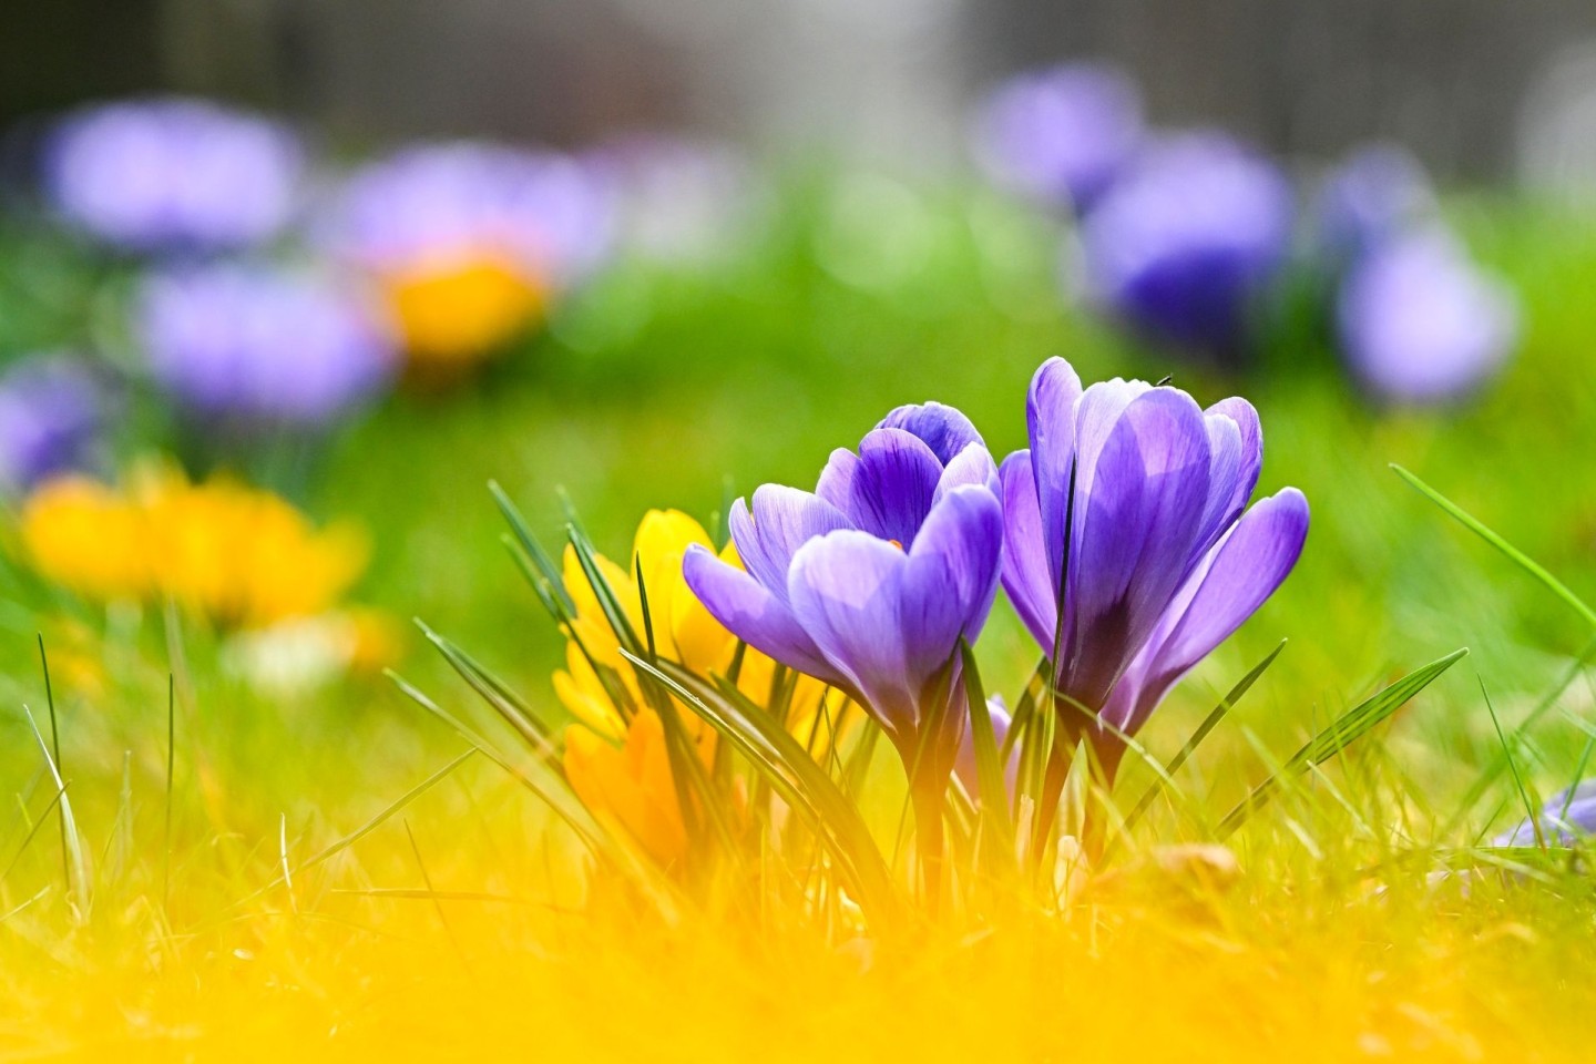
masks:
POLYGON ((356 172, 321 225, 329 250, 386 292, 412 357, 433 364, 472 362, 531 327, 610 228, 579 161, 471 142, 356 172))

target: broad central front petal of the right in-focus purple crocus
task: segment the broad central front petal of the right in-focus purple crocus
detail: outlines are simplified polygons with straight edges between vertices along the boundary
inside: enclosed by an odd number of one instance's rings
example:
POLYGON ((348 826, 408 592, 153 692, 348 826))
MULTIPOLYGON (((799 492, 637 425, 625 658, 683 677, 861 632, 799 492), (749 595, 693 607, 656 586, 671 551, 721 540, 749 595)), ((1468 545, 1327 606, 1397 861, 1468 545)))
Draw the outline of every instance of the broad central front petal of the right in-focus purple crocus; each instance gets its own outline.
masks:
MULTIPOLYGON (((1069 558, 1065 694, 1101 707, 1200 558, 1211 453, 1186 392, 1125 405, 1080 496, 1069 558)), ((1079 479, 1077 479, 1079 480, 1079 479)))

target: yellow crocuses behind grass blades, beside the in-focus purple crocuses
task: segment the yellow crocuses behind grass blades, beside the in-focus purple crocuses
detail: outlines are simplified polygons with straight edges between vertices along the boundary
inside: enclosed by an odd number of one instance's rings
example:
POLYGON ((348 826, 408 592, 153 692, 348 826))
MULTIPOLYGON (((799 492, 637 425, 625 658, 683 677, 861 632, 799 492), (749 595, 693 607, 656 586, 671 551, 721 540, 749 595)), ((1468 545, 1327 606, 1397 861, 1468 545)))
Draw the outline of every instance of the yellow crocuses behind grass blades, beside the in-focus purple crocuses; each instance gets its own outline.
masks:
MULTIPOLYGON (((646 636, 643 598, 635 577, 638 571, 659 656, 699 675, 725 675, 737 652, 737 636, 710 616, 681 579, 681 555, 694 542, 712 546, 709 533, 696 520, 680 510, 650 510, 632 542, 630 569, 602 555, 595 560, 640 640, 646 636)), ((741 565, 731 544, 721 550, 721 558, 741 565)), ((554 673, 554 691, 578 719, 565 732, 565 774, 584 804, 614 817, 650 855, 670 865, 681 855, 686 834, 666 753, 664 726, 648 708, 635 670, 621 657, 619 640, 573 547, 567 547, 563 562, 565 587, 576 616, 568 627, 567 668, 554 673), (616 703, 611 689, 621 694, 624 705, 616 703)), ((745 649, 737 686, 755 703, 768 705, 776 670, 774 660, 745 649)), ((809 676, 793 676, 790 683, 787 726, 820 756, 830 750, 844 699, 832 692, 822 700, 825 684, 809 676)), ((677 703, 677 708, 699 756, 710 764, 713 731, 686 707, 677 703)))

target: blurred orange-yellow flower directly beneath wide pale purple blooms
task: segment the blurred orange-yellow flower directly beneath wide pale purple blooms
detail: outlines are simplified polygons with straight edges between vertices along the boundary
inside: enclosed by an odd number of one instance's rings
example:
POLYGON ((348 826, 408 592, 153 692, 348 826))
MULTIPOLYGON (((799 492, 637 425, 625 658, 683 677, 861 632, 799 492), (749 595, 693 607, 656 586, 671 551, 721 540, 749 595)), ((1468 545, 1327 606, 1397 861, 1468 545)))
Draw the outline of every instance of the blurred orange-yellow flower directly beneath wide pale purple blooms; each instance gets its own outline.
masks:
POLYGON ((385 278, 394 317, 421 365, 466 365, 538 322, 549 290, 495 252, 420 262, 385 278))

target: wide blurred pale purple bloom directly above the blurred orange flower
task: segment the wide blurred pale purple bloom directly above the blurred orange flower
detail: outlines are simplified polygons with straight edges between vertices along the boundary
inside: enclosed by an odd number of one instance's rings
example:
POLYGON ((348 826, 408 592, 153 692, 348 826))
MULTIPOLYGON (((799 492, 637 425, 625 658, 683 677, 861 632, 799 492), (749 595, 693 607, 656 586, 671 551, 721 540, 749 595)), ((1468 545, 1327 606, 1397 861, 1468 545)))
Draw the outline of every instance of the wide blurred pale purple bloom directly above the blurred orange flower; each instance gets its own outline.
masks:
POLYGON ((423 144, 358 171, 324 219, 342 255, 377 273, 506 255, 539 279, 568 282, 611 242, 600 174, 546 152, 423 144))

